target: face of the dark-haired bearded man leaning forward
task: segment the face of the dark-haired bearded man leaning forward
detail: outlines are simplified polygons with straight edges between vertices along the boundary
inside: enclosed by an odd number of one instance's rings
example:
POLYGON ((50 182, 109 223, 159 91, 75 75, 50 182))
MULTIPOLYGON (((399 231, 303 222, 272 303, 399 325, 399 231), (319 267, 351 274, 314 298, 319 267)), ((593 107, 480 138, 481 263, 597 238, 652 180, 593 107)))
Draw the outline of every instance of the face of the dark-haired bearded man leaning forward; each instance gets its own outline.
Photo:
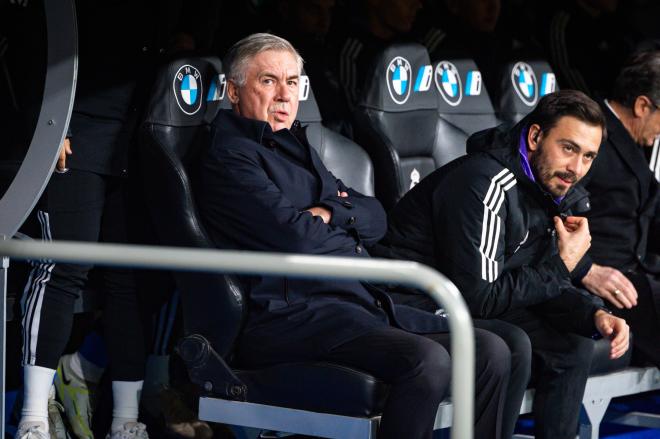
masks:
POLYGON ((602 140, 602 128, 564 116, 546 132, 529 128, 529 161, 537 181, 553 197, 563 197, 591 168, 602 140))

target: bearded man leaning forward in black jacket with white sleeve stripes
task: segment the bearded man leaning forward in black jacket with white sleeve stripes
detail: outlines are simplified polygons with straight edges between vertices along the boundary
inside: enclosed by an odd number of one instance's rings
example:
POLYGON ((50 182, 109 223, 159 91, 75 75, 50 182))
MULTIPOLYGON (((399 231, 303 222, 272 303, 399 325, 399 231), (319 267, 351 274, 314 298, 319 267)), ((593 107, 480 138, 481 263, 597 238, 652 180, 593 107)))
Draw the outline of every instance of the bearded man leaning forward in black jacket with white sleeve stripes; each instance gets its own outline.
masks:
POLYGON ((468 140, 468 155, 435 171, 389 217, 385 254, 431 265, 461 290, 475 317, 520 326, 538 360, 536 437, 573 438, 597 331, 611 357, 628 326, 571 276, 584 270, 587 220, 570 215, 586 193, 575 183, 595 158, 605 121, 576 91, 544 97, 513 129, 468 140))

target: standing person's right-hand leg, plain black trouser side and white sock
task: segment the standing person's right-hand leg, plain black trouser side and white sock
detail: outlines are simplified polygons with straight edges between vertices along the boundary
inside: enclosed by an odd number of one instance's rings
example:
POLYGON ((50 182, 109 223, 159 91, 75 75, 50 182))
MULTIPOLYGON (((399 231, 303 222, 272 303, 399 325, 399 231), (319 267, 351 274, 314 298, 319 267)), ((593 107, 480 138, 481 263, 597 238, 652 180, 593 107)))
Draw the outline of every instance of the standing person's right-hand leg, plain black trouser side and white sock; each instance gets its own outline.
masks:
MULTIPOLYGON (((103 242, 130 242, 131 212, 128 210, 126 182, 106 177, 108 191, 101 224, 103 242)), ((137 301, 135 270, 104 269, 105 338, 109 373, 112 380, 113 437, 142 437, 137 424, 140 393, 146 362, 142 321, 137 301), (133 436, 120 436, 131 432, 133 436)), ((146 435, 146 432, 144 433, 146 435)))

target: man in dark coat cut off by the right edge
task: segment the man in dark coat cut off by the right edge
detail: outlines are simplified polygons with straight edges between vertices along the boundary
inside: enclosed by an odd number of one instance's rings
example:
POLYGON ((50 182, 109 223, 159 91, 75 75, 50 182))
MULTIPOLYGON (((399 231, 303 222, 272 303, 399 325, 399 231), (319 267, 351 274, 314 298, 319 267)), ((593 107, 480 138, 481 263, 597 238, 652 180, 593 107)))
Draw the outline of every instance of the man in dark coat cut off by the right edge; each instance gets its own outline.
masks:
POLYGON ((660 136, 660 51, 633 57, 604 101, 607 140, 587 177, 594 263, 582 284, 635 333, 635 360, 660 366, 658 182, 644 156, 660 136), (654 245, 655 244, 655 245, 654 245))

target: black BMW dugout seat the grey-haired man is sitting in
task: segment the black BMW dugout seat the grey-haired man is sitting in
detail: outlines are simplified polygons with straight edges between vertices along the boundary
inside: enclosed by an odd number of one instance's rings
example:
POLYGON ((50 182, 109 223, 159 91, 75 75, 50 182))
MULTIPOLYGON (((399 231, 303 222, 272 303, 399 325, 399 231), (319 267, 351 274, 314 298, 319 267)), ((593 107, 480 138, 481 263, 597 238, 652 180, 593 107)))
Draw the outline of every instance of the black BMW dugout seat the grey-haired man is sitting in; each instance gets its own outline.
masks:
MULTIPOLYGON (((220 107, 227 107, 221 71, 214 58, 180 58, 155 81, 141 127, 140 160, 148 207, 164 245, 214 247, 197 216, 194 186, 197 158, 210 141, 209 124, 220 107)), ((334 150, 333 139, 328 136, 327 151, 334 150)), ((213 273, 174 277, 186 334, 179 354, 191 380, 205 392, 200 419, 323 437, 373 437, 385 384, 320 362, 233 369, 232 351, 247 306, 240 281, 213 273)))

